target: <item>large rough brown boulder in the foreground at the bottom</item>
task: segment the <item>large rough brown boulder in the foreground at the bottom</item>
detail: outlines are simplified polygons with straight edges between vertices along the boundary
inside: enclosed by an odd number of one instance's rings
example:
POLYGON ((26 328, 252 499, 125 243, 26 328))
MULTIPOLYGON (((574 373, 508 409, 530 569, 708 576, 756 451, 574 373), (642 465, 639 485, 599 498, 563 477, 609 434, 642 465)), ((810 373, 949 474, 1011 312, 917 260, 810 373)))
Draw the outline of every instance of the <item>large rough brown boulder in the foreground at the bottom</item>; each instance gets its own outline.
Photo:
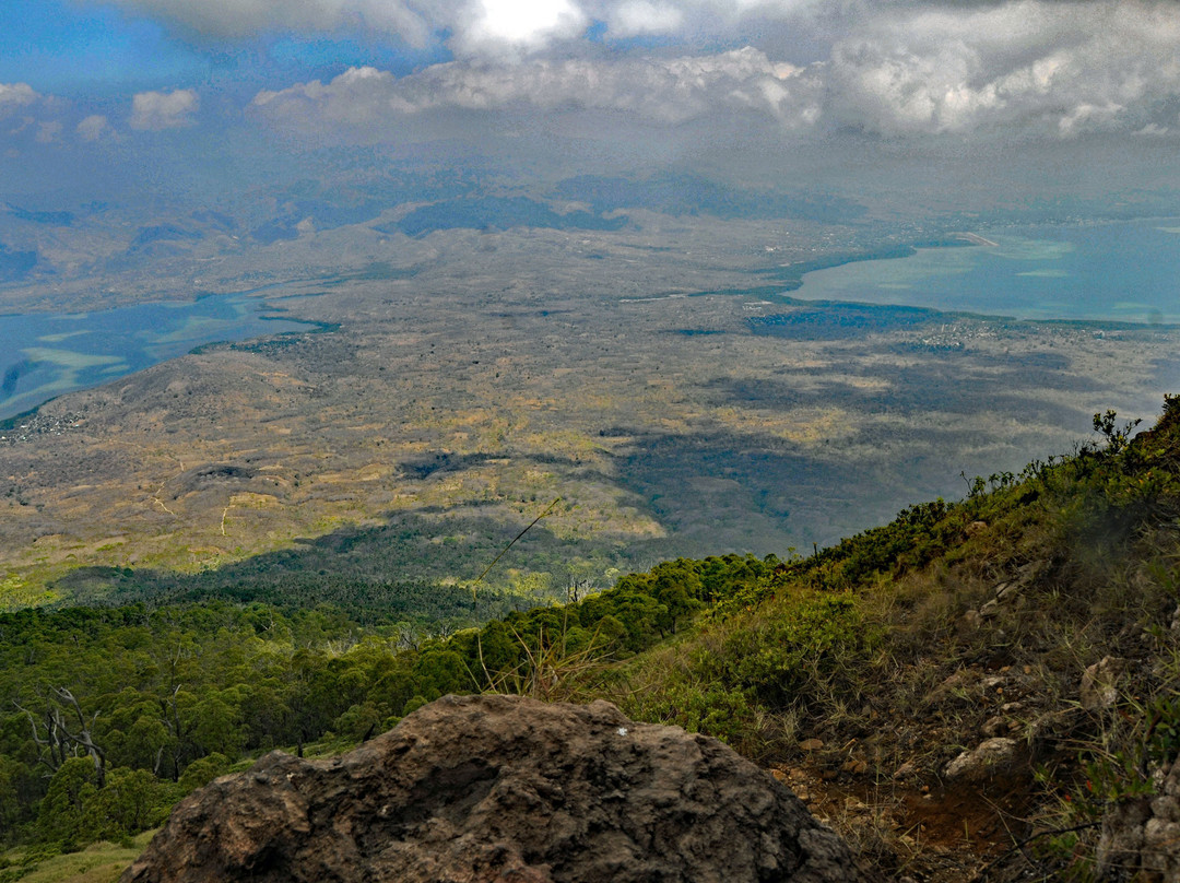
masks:
POLYGON ((334 760, 282 752, 177 806, 123 883, 866 879, 723 744, 609 702, 447 696, 334 760))

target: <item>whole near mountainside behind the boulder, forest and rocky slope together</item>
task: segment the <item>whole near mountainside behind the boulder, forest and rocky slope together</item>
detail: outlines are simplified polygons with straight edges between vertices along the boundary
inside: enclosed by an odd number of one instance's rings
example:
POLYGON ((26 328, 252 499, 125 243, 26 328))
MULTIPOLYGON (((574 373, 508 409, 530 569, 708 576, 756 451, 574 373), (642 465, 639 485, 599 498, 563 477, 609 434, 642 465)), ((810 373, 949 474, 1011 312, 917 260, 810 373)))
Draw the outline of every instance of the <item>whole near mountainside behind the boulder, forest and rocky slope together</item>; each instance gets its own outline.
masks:
POLYGON ((236 757, 322 756, 444 693, 500 692, 716 737, 878 874, 1174 878, 1180 397, 1139 434, 1094 424, 1070 456, 807 558, 664 562, 446 639, 225 602, 4 614, 0 692, 77 711, 109 767, 21 778, 40 748, 12 706, 14 836, 125 837, 236 757), (150 811, 112 810, 131 783, 150 811))

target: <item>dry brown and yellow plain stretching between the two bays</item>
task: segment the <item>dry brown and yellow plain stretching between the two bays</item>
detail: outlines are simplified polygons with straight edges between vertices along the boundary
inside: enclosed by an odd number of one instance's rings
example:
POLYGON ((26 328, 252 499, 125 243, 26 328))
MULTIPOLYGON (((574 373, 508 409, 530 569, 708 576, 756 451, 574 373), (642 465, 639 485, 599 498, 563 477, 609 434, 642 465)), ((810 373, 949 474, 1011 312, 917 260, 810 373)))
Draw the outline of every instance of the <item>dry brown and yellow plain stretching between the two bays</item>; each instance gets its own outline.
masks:
MULTIPOLYGON (((540 515, 489 586, 564 597, 676 555, 811 552, 1064 453, 1095 411, 1154 413, 1180 380, 1169 326, 813 302, 781 281, 924 230, 381 227, 191 238, 92 280, 124 302, 266 287, 268 315, 310 325, 7 421, 0 606, 245 561, 471 586, 540 515)), ((93 306, 67 275, 53 309, 93 306)), ((46 306, 37 286, 0 296, 46 306)))

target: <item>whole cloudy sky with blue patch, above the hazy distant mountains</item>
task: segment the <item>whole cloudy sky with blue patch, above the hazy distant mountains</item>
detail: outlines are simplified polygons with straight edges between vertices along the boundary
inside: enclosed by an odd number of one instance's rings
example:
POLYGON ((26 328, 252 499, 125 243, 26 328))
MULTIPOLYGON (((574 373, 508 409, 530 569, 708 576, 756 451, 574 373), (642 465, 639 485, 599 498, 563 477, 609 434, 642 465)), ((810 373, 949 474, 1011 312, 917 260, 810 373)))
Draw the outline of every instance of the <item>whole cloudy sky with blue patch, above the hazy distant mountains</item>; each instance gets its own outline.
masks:
POLYGON ((5 0, 0 197, 393 161, 1159 191, 1178 47, 1174 0, 5 0))

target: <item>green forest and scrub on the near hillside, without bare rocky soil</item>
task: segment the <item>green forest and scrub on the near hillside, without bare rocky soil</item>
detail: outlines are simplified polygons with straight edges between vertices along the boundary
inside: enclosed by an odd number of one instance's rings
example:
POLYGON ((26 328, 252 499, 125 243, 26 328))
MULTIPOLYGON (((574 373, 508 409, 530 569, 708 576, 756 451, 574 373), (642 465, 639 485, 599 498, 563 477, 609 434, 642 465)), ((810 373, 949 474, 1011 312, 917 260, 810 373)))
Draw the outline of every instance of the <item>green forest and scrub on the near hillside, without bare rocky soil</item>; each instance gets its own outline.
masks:
MULTIPOLYGON (((362 614, 301 606, 302 593, 0 614, 0 841, 22 848, 0 879, 94 841, 126 843, 262 752, 342 750, 446 693, 607 696, 769 763, 798 756, 806 734, 851 745, 881 715, 930 714, 919 698, 963 666, 1023 666, 1063 693, 1117 652, 1148 660, 1134 701, 1117 726, 1071 725, 1075 747, 1044 758, 1038 812, 1060 810, 1082 779, 1089 791, 1069 812, 1149 787, 1143 759, 1180 747, 1168 699, 1180 686, 1168 628, 1180 601, 1180 398, 1138 436, 1110 412, 1094 427, 1100 440, 1069 456, 976 478, 962 501, 914 505, 806 557, 670 561, 529 610, 490 600, 496 619, 446 636, 396 604, 362 614), (1021 607, 964 626, 997 581, 1030 573, 1021 607), (1101 779, 1079 772, 1095 758, 1101 779)), ((982 712, 946 709, 936 717, 951 746, 924 756, 930 770, 952 751, 953 726, 983 724, 982 712)), ((912 740, 874 750, 885 772, 917 751, 912 740)), ((1043 861, 1080 861, 1079 839, 1043 861)))

